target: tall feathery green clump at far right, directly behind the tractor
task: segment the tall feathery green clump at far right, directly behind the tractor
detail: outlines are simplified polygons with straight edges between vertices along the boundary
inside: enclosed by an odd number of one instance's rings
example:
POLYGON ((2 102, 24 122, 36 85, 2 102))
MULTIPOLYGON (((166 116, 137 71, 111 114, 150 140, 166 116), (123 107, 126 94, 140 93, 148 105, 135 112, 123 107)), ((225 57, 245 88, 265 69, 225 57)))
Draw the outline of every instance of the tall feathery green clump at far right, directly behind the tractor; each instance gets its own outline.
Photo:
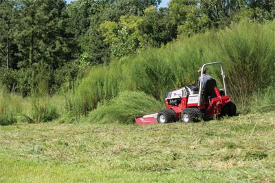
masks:
MULTIPOLYGON (((242 108, 250 97, 272 85, 275 76, 275 21, 248 23, 221 30, 209 36, 206 56, 223 62, 230 94, 242 108)), ((215 71, 215 75, 220 73, 215 71)))

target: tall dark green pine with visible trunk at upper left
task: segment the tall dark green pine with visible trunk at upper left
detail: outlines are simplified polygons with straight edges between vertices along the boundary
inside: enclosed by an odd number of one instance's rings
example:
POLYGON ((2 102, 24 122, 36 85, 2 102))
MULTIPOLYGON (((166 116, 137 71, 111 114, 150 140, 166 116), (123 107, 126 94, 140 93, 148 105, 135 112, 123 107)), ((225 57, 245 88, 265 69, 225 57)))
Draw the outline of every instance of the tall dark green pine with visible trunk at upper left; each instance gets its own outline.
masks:
POLYGON ((45 62, 53 69, 74 55, 74 34, 67 29, 68 16, 63 0, 23 0, 19 8, 17 35, 19 66, 45 62))

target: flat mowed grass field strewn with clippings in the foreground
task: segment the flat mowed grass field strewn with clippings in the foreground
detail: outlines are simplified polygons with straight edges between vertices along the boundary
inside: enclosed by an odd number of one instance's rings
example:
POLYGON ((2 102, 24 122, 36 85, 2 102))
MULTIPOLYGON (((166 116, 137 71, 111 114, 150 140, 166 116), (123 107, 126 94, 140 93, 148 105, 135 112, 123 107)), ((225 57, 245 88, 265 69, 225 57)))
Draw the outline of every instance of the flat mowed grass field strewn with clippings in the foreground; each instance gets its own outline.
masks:
POLYGON ((275 182, 275 114, 1 126, 0 182, 275 182))

